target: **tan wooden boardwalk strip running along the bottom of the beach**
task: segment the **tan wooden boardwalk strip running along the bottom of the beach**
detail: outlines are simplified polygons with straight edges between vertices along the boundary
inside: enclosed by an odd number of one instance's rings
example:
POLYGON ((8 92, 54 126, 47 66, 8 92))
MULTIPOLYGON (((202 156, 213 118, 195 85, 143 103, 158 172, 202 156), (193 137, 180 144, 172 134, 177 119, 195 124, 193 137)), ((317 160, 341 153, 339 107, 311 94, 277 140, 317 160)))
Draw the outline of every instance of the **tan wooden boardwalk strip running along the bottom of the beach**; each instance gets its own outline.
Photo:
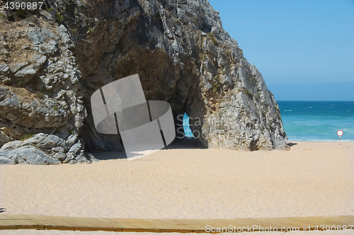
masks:
POLYGON ((221 233, 231 230, 232 232, 242 232, 242 230, 267 231, 268 229, 269 231, 269 229, 275 229, 275 227, 278 229, 277 231, 282 231, 280 229, 286 230, 295 228, 295 231, 333 231, 346 229, 354 232, 354 216, 239 219, 115 219, 29 214, 0 214, 0 230, 55 229, 69 231, 221 233), (225 231, 225 229, 228 230, 225 231))

